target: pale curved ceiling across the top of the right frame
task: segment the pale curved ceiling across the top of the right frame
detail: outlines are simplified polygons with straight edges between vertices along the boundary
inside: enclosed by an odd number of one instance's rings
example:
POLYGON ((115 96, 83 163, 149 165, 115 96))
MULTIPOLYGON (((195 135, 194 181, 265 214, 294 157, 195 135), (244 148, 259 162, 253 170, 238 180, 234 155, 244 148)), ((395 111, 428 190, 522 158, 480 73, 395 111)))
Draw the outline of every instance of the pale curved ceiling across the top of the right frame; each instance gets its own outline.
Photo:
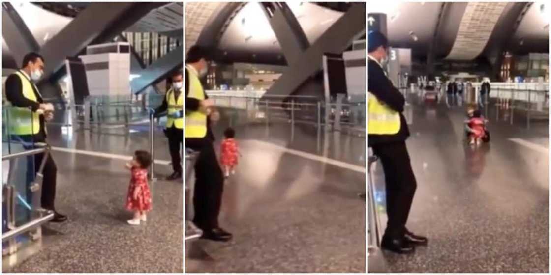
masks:
MULTIPOLYGON (((436 58, 442 59, 452 50, 468 4, 466 2, 444 4, 442 2, 399 3, 387 1, 377 5, 368 5, 368 10, 369 13, 387 14, 387 31, 391 46, 412 48, 414 57, 422 59, 426 57, 430 44, 433 42, 437 21, 441 20, 437 30, 437 47, 434 51, 436 58), (441 11, 442 16, 440 17, 441 11), (420 16, 421 14, 423 16, 420 16)), ((548 7, 550 5, 545 2, 507 3, 503 12, 494 22, 491 22, 489 15, 480 19, 475 18, 474 20, 479 20, 478 22, 468 22, 469 24, 495 24, 490 36, 492 39, 488 41, 480 55, 485 55, 492 47, 502 42, 493 38, 511 32, 511 27, 504 27, 506 21, 511 23, 517 19, 520 19, 520 24, 509 40, 509 47, 506 50, 514 54, 548 52, 549 21, 548 19, 546 21, 545 18, 550 17, 549 9, 551 7, 548 7), (527 9, 518 14, 522 7, 515 9, 513 5, 526 5, 527 9), (515 11, 516 14, 510 14, 515 11), (507 20, 501 20, 504 18, 507 20)), ((484 8, 492 9, 493 7, 484 8)), ((490 25, 490 29, 491 27, 490 25)), ((510 35, 507 36, 510 37, 510 35)))

